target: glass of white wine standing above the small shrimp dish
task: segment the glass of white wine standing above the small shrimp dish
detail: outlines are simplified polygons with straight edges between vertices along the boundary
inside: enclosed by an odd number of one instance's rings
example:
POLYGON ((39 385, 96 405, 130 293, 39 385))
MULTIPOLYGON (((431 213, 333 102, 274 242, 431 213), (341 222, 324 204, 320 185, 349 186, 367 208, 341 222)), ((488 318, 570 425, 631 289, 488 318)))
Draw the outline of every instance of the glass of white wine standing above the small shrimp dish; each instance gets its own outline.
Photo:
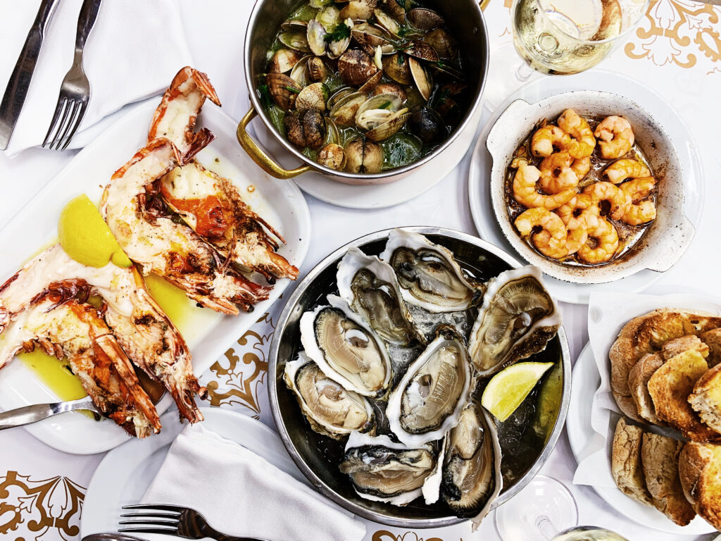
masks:
POLYGON ((514 0, 513 45, 490 55, 487 106, 495 109, 536 72, 570 75, 596 66, 636 27, 649 1, 514 0))

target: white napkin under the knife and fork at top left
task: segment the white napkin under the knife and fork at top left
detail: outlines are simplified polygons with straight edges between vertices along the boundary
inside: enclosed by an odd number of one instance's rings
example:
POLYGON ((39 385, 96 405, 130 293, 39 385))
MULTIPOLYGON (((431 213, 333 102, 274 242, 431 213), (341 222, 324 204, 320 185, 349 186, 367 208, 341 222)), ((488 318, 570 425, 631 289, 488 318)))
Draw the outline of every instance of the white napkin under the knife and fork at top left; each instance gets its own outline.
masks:
MULTIPOLYGON (((82 0, 57 0, 25 105, 6 154, 42 144, 53 119, 63 78, 73 62, 82 0)), ((4 92, 40 0, 0 0, 0 93, 4 92), (22 5, 21 5, 22 4, 22 5)), ((183 66, 192 65, 180 9, 174 0, 105 0, 85 45, 84 69, 92 94, 71 146, 81 133, 126 104, 165 89, 183 66)))

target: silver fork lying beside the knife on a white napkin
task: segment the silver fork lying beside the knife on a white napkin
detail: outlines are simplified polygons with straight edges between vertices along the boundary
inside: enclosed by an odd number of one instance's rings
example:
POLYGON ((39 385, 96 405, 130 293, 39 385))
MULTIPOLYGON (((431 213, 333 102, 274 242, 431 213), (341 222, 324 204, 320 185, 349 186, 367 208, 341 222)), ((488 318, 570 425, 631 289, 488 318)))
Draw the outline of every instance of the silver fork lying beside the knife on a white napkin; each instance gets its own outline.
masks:
POLYGON ((80 8, 78 30, 75 37, 75 58, 63 79, 63 84, 61 84, 53 121, 50 122, 48 134, 43 140, 43 146, 45 146, 48 144, 50 135, 55 131, 55 136, 50 141, 50 149, 55 147, 56 150, 65 150, 85 116, 90 101, 90 82, 83 69, 83 50, 90 30, 97 19, 99 8, 100 0, 84 0, 80 8))

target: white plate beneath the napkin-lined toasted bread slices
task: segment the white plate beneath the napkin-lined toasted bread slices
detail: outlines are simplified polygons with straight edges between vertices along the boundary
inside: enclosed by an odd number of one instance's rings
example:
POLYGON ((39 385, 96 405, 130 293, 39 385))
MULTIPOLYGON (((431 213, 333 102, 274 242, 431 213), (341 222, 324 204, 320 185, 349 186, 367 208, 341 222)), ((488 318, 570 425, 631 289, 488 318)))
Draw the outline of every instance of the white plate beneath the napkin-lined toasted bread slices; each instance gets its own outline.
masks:
MULTIPOLYGON (((573 365, 573 384, 571 385, 571 400, 568 405, 566 417, 566 433, 571 444, 571 452, 580 462, 583 458, 583 451, 586 446, 598 434, 590 426, 590 411, 593 405, 593 395, 596 394, 598 384, 601 382, 601 375, 598 374, 598 366, 593 359, 590 343, 587 343, 581 351, 575 365, 573 365)), ((609 438, 609 470, 611 470, 611 442, 609 438)), ((658 529, 660 532, 667 532, 677 535, 702 535, 714 533, 716 530, 700 516, 696 516, 688 526, 678 526, 667 519, 660 511, 653 507, 645 506, 642 503, 632 500, 616 487, 598 487, 593 490, 601 496, 609 506, 619 511, 627 519, 643 524, 644 526, 658 529)))

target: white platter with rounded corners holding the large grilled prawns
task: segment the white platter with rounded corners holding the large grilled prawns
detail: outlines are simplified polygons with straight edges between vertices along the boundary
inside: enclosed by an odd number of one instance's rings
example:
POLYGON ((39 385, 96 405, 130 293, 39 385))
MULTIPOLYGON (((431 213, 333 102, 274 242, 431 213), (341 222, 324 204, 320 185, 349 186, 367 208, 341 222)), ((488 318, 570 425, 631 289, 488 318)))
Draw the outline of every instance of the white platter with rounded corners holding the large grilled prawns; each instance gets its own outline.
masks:
MULTIPOLYGON (((112 126, 107 128, 107 130, 103 131, 84 149, 79 151, 79 153, 76 154, 76 156, 74 156, 70 162, 68 162, 43 188, 41 188, 41 190, 39 190, 32 199, 30 199, 30 201, 28 201, 24 206, 22 206, 22 208, 19 209, 19 211, 17 211, 17 213, 14 214, 14 216, 8 221, 6 226, 0 229, 0 238, 7 237, 7 235, 10 234, 8 233, 8 231, 12 230, 13 228, 13 224, 17 224, 19 221, 22 223, 22 221, 25 220, 27 221, 27 223, 32 223, 31 220, 32 216, 34 215, 33 213, 42 210, 41 208, 35 208, 35 206, 39 204, 37 203, 37 201, 43 201, 45 198, 48 198, 48 194, 52 195, 57 190, 62 190, 61 186, 63 180, 65 180, 66 177, 74 171, 74 168, 78 167, 78 162, 82 163, 86 160, 92 160, 97 152, 102 151, 104 146, 107 144, 107 141, 112 141, 115 133, 125 130, 128 126, 131 126, 132 128, 138 126, 138 124, 142 124, 143 126, 149 125, 150 119, 152 118, 152 113, 155 109, 156 100, 146 100, 146 102, 142 102, 137 107, 133 107, 130 111, 128 111, 126 115, 123 115, 122 118, 116 120, 115 123, 112 123, 112 126)), ((224 110, 221 110, 221 108, 212 106, 205 107, 200 113, 200 116, 198 117, 200 125, 203 124, 204 120, 211 121, 212 128, 215 131, 217 137, 226 137, 229 138, 230 141, 236 141, 235 131, 237 121, 234 120, 234 118, 231 118, 230 115, 225 113, 224 110)), ((247 160, 247 162, 250 162, 250 158, 247 157, 247 154, 244 154, 244 151, 242 151, 242 148, 239 145, 236 147, 236 154, 238 154, 239 157, 242 157, 239 159, 247 160)), ((237 159, 234 159, 233 156, 226 156, 226 159, 228 159, 230 162, 237 162, 237 159)), ((117 164, 117 167, 120 167, 121 165, 122 163, 119 163, 117 164)), ((240 167, 239 170, 241 170, 240 167)), ((295 263, 296 266, 301 267, 301 264, 305 260, 307 252, 309 250, 311 237, 310 211, 305 201, 305 198, 301 193, 301 190, 299 190, 298 187, 292 182, 273 179, 272 177, 268 177, 267 175, 265 175, 260 170, 252 170, 252 172, 247 173, 247 175, 249 175, 249 177, 252 176, 252 178, 254 179, 253 183, 257 186, 257 189, 260 191, 260 193, 262 193, 262 182, 267 181, 274 182, 276 187, 278 187, 277 189, 280 190, 281 193, 286 194, 288 206, 292 206, 293 214, 296 216, 295 220, 298 226, 298 230, 293 231, 292 234, 293 237, 301 239, 298 241, 298 245, 296 245, 296 250, 293 253, 293 263, 295 263), (256 177, 259 177, 257 178, 258 181, 256 181, 256 177), (296 237, 296 235, 298 235, 298 237, 296 237)), ((291 237, 291 235, 286 233, 286 237, 291 237)), ((281 294, 283 294, 283 291, 286 290, 288 285, 290 285, 290 281, 288 279, 279 280, 275 284, 273 291, 271 291, 269 299, 255 305, 255 312, 238 316, 239 319, 235 320, 236 325, 232 325, 231 328, 226 330, 226 332, 224 333, 224 335, 228 335, 227 340, 216 339, 213 342, 213 347, 208 353, 206 353, 202 357, 202 359, 198 359, 197 357, 195 357, 193 359, 193 369, 195 371, 195 374, 198 376, 204 374, 205 371, 207 371, 210 366, 224 353, 224 351, 226 351, 226 349, 229 348, 232 343, 234 343, 234 340, 239 338, 239 336, 246 332, 249 327, 252 327, 252 325, 255 324, 255 321, 257 320, 257 316, 255 316, 255 314, 262 314, 263 311, 267 311, 267 309, 270 309, 270 306, 276 300, 278 300, 278 298, 281 294), (200 362, 198 362, 198 360, 200 360, 200 362)), ((209 327, 208 334, 205 338, 200 340, 199 344, 209 340, 209 338, 211 338, 213 335, 213 330, 215 330, 222 321, 224 321, 222 318, 218 319, 215 324, 209 327)), ((30 372, 28 371, 28 373, 30 372)), ((42 382, 39 382, 39 380, 38 384, 40 384, 40 386, 42 387, 45 387, 45 385, 42 382)), ((48 390, 48 392, 50 391, 48 390)), ((50 394, 54 395, 54 393, 52 392, 50 392, 50 394)), ((16 390, 15 395, 19 397, 20 393, 16 390)), ((24 402, 25 405, 30 405, 30 401, 24 402)), ((165 410, 167 410, 167 408, 169 408, 170 405, 172 405, 172 399, 166 394, 166 396, 164 396, 162 400, 160 400, 160 402, 156 405, 156 409, 159 413, 162 414, 165 410)), ((1 409, 2 408, 0 408, 0 410, 1 409)), ((76 419, 80 418, 77 413, 64 414, 63 416, 67 415, 75 415, 76 419)), ((25 428, 25 430, 32 434, 32 436, 35 436, 35 438, 43 441, 44 444, 47 444, 54 449, 58 449, 58 451, 67 452, 70 454, 95 454, 99 452, 105 452, 108 449, 112 449, 113 447, 122 444, 124 441, 130 438, 130 436, 125 434, 125 432, 122 431, 122 429, 120 428, 118 428, 117 431, 112 433, 110 437, 106 437, 104 439, 92 438, 92 428, 90 428, 91 434, 89 434, 87 438, 84 438, 83 441, 63 440, 61 435, 62 429, 58 428, 60 424, 58 420, 60 419, 62 418, 50 418, 45 421, 39 421, 38 423, 24 426, 23 428, 25 428)), ((81 419, 78 422, 85 423, 88 427, 92 427, 93 425, 91 423, 94 423, 94 421, 90 421, 89 419, 81 419), (88 422, 86 423, 85 421, 88 422)))

